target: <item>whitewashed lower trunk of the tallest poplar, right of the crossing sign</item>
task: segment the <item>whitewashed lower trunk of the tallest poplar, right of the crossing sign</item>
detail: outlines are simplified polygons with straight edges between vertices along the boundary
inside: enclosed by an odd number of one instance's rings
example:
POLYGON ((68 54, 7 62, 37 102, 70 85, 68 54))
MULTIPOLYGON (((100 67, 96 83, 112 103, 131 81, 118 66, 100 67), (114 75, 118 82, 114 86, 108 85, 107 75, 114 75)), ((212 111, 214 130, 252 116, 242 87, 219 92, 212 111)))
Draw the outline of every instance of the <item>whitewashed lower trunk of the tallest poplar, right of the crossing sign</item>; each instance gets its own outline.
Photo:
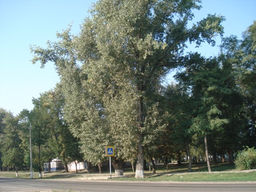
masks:
POLYGON ((137 148, 137 164, 135 178, 144 178, 144 153, 142 146, 142 134, 139 134, 139 142, 137 148))

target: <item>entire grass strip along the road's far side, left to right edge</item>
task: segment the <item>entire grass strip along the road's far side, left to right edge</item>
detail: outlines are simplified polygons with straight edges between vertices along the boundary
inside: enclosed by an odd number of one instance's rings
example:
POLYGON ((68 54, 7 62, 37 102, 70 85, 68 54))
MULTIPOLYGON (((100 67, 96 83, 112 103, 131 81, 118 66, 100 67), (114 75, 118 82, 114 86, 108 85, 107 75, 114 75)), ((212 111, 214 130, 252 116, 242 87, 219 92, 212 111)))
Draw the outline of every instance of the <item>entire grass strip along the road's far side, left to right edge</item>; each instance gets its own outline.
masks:
MULTIPOLYGON (((212 173, 208 173, 206 163, 194 163, 192 173, 187 173, 187 163, 183 163, 181 166, 170 165, 168 170, 165 167, 157 166, 157 174, 152 174, 149 170, 145 171, 145 178, 136 179, 131 168, 124 170, 124 175, 127 177, 115 178, 115 181, 179 181, 179 182, 246 182, 256 181, 256 170, 253 171, 237 171, 235 166, 229 165, 229 163, 212 163, 212 173)), ((30 172, 19 171, 19 178, 30 179, 30 172)), ((109 175, 106 172, 103 175, 109 175)), ((114 170, 113 170, 114 175, 114 170)), ((0 171, 0 177, 15 178, 15 172, 13 171, 0 171)), ((69 172, 64 173, 62 171, 45 173, 44 179, 78 179, 83 177, 97 177, 102 176, 98 172, 91 171, 90 174, 85 172, 79 172, 78 174, 69 172)), ((33 174, 34 179, 38 178, 38 173, 33 174)))

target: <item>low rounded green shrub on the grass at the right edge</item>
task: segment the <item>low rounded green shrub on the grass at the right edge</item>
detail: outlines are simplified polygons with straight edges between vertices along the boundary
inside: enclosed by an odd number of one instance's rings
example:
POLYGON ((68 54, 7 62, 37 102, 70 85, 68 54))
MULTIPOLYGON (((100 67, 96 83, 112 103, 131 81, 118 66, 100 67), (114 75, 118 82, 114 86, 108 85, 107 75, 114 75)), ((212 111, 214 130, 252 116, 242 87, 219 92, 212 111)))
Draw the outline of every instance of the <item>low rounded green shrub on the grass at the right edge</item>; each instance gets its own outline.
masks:
POLYGON ((256 169, 256 149, 246 147, 237 154, 234 163, 238 170, 256 169))

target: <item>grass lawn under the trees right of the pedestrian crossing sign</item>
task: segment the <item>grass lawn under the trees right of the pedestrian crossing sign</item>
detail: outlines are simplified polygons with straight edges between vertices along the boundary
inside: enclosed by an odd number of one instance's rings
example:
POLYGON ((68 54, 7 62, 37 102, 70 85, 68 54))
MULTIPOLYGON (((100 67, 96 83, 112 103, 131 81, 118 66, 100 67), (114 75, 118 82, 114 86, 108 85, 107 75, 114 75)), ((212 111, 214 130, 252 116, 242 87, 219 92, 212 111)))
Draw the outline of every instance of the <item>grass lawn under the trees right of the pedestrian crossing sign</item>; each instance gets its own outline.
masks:
POLYGON ((256 181, 256 170, 238 171, 229 163, 212 163, 211 173, 208 173, 206 163, 194 163, 192 172, 187 172, 187 163, 181 166, 170 165, 166 170, 163 166, 157 167, 157 174, 145 171, 145 178, 136 179, 133 176, 127 178, 113 178, 117 181, 178 181, 178 182, 246 182, 256 181))

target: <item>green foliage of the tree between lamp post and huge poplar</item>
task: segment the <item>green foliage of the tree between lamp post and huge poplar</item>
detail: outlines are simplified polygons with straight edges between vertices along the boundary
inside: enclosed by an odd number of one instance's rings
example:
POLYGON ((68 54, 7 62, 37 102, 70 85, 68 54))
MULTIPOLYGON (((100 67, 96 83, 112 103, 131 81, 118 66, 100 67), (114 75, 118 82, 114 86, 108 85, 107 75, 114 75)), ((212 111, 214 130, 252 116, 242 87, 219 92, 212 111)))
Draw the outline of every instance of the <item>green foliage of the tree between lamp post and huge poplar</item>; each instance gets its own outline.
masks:
MULTIPOLYGON (((43 162, 49 162, 53 158, 60 158, 64 163, 71 161, 83 161, 79 150, 79 141, 73 137, 63 117, 65 98, 59 90, 47 91, 41 97, 34 99, 33 117, 33 145, 37 146, 34 156, 34 167, 37 170, 43 162), (38 117, 39 115, 39 117, 38 117)), ((66 170, 68 171, 68 170, 66 170)))

